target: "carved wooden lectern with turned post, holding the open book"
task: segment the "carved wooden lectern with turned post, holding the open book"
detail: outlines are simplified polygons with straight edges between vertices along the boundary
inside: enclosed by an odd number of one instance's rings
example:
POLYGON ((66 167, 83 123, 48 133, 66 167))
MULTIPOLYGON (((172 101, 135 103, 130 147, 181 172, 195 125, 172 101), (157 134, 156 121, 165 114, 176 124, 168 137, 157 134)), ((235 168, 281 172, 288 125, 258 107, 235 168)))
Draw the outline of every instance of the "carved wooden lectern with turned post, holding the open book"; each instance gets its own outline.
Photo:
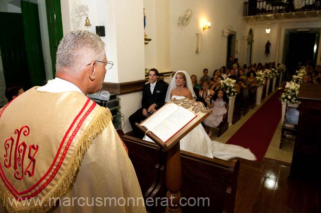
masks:
MULTIPOLYGON (((182 163, 179 141, 198 124, 200 124, 207 116, 209 116, 212 110, 205 109, 203 103, 196 102, 195 100, 190 100, 188 98, 179 100, 174 98, 168 103, 175 103, 178 106, 184 107, 185 109, 195 113, 197 117, 185 125, 175 135, 173 135, 173 137, 171 137, 166 143, 163 143, 153 132, 148 131, 148 129, 142 126, 141 123, 135 124, 141 131, 145 132, 148 137, 150 137, 155 143, 160 145, 165 152, 167 152, 165 176, 166 188, 168 190, 166 193, 168 206, 166 207, 166 213, 181 213, 182 211, 179 201, 181 199, 180 189, 182 184, 182 163)), ((163 107, 161 107, 161 109, 163 107)), ((159 111, 161 109, 159 109, 159 111)), ((147 119, 150 119, 153 117, 153 115, 155 115, 155 113, 147 119)))

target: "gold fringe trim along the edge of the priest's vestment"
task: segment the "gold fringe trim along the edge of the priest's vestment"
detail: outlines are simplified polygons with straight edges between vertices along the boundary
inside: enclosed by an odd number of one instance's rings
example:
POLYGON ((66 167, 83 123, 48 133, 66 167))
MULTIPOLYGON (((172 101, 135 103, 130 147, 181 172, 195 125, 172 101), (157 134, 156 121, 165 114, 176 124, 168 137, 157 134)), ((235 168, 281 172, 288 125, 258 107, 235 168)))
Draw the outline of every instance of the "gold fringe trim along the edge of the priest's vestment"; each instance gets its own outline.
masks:
MULTIPOLYGON (((105 108, 100 107, 98 113, 95 115, 93 120, 87 126, 86 130, 84 131, 83 136, 81 137, 80 141, 77 143, 75 148, 75 152, 73 153, 69 164, 66 167, 66 172, 59 180, 55 188, 51 190, 51 192, 43 198, 43 202, 41 205, 37 206, 30 206, 30 207, 23 207, 21 209, 15 209, 13 204, 12 206, 9 203, 8 196, 6 191, 0 187, 0 199, 2 200, 2 205, 6 208, 8 213, 46 213, 48 212, 53 205, 54 202, 50 202, 52 198, 61 198, 64 196, 68 191, 72 183, 74 183, 74 178, 77 174, 79 169, 80 163, 83 159, 83 156, 89 146, 92 144, 92 141, 100 135, 109 122, 112 121, 112 114, 105 108)), ((12 198, 14 199, 14 198, 12 198)), ((36 199, 37 200, 37 199, 36 199)), ((12 201, 12 200, 11 200, 12 201)), ((27 202, 26 202, 27 203, 27 202)))

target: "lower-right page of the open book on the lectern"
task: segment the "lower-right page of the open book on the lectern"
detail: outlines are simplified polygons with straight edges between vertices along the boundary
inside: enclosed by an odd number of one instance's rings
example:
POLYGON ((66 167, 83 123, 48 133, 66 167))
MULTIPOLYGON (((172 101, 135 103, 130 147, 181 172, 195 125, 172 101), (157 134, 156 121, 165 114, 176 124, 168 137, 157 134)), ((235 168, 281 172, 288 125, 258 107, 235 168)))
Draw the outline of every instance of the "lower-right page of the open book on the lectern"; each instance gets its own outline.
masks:
POLYGON ((164 143, 181 130, 185 125, 191 122, 197 115, 191 111, 178 107, 159 122, 153 129, 150 129, 164 143))

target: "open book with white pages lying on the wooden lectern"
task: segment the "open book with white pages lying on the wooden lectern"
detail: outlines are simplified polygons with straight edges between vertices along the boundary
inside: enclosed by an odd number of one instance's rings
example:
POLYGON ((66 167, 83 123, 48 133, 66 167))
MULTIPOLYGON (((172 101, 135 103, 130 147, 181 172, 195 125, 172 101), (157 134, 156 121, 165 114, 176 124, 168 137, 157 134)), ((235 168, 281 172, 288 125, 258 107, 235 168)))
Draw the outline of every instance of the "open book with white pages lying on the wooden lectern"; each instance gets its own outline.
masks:
POLYGON ((197 117, 196 114, 177 106, 174 103, 164 105, 151 117, 140 123, 149 131, 153 132, 162 142, 166 143, 179 130, 197 117))

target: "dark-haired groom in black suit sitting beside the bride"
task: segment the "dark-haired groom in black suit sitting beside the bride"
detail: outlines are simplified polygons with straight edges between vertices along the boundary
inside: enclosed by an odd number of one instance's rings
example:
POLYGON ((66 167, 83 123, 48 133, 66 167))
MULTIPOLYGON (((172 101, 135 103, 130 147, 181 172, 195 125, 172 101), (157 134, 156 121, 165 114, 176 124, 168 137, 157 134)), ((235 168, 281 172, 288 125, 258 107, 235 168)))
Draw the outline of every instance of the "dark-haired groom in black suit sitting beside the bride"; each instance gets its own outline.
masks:
POLYGON ((167 85, 157 82, 159 72, 152 68, 149 70, 149 83, 143 87, 142 108, 129 117, 131 128, 137 138, 143 138, 144 134, 136 127, 135 122, 144 121, 150 114, 161 108, 165 103, 167 85))

